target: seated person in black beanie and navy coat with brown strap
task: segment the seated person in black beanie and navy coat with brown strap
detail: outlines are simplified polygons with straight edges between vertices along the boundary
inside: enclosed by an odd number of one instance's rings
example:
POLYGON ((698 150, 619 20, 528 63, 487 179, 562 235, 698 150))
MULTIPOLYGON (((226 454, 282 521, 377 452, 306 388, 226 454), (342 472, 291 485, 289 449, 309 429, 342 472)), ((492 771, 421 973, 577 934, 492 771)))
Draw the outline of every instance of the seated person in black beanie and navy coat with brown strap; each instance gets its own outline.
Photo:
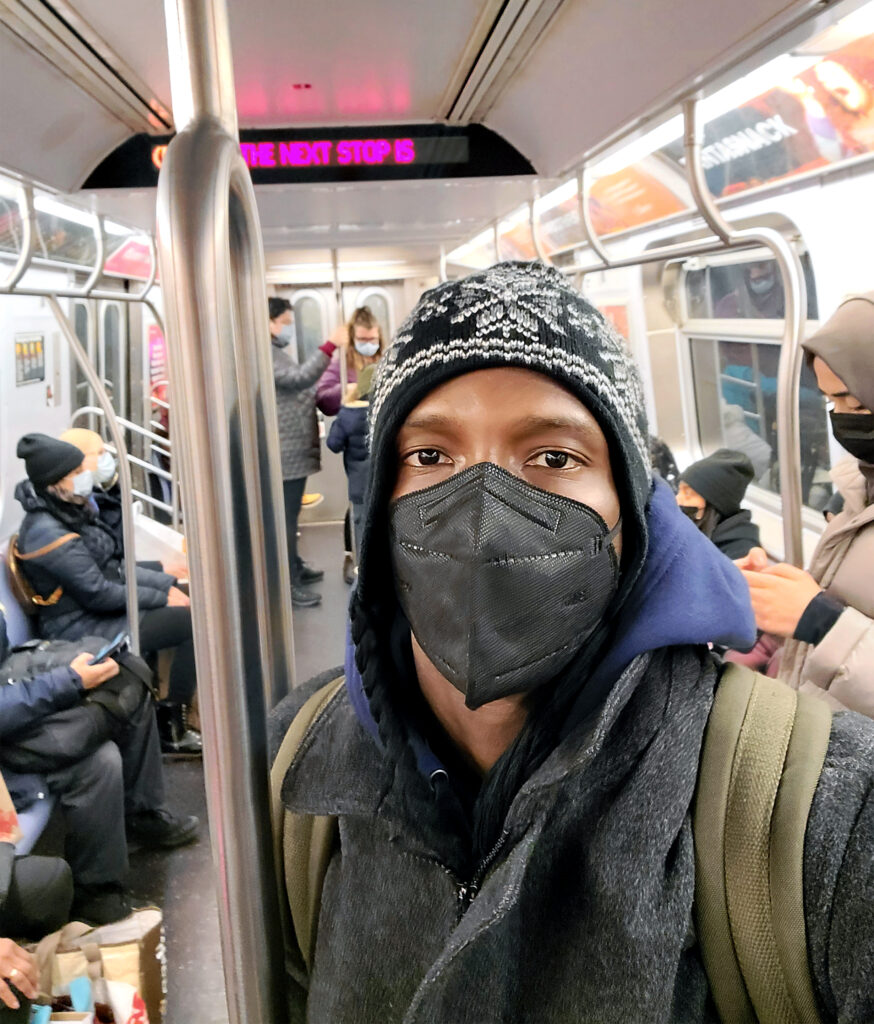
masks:
MULTIPOLYGON (((84 468, 82 452, 45 434, 27 434, 17 456, 29 477, 15 487, 25 510, 17 547, 40 606, 39 634, 112 639, 127 629, 124 551, 90 504, 93 474, 84 468)), ((175 584, 166 572, 137 568, 140 648, 173 648, 170 691, 157 706, 162 749, 196 755, 201 737, 185 720, 196 686, 191 609, 175 584)))

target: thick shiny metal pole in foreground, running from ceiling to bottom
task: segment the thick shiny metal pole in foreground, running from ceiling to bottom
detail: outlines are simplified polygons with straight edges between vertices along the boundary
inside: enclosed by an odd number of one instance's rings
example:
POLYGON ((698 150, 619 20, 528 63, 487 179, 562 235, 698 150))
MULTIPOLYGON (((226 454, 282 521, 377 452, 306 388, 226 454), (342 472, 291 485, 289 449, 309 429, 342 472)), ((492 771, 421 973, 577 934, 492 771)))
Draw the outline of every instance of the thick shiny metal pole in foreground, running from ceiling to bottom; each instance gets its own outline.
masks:
POLYGON ((264 254, 226 5, 166 0, 165 14, 180 131, 159 179, 159 254, 219 927, 231 1024, 269 1024, 286 999, 266 712, 294 655, 264 254))

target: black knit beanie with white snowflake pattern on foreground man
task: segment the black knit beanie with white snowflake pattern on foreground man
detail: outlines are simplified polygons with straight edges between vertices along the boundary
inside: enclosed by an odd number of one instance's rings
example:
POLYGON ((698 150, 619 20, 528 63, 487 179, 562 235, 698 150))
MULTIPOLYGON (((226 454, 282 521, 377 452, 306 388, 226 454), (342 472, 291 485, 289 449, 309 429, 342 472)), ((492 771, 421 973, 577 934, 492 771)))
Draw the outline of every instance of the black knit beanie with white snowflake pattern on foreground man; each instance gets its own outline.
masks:
POLYGON ((498 263, 420 299, 374 379, 376 489, 394 472, 395 435, 412 409, 444 381, 486 367, 538 371, 579 397, 607 436, 623 517, 633 510, 643 525, 652 473, 638 369, 605 317, 543 263, 498 263))

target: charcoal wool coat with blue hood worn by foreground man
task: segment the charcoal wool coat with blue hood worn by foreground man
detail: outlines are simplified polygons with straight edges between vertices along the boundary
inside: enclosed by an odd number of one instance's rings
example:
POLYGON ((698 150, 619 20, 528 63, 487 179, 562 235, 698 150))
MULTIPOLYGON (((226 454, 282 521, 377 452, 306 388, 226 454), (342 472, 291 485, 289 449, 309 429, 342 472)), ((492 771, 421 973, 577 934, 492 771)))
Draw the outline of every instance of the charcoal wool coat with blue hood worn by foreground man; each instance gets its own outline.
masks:
MULTIPOLYGON (((666 487, 648 519, 644 570, 586 683, 612 681, 608 695, 522 785, 475 869, 432 811, 451 766, 427 743, 409 764, 387 759, 389 709, 378 733, 347 652, 347 687, 282 785, 291 811, 339 818, 313 968, 289 980, 292 1021, 718 1021, 693 923, 691 806, 717 674, 703 644, 748 646, 752 614, 666 487)), ((274 713, 274 749, 320 682, 274 713)), ((874 723, 838 716, 804 848, 824 1022, 874 1020, 873 756, 874 723)))

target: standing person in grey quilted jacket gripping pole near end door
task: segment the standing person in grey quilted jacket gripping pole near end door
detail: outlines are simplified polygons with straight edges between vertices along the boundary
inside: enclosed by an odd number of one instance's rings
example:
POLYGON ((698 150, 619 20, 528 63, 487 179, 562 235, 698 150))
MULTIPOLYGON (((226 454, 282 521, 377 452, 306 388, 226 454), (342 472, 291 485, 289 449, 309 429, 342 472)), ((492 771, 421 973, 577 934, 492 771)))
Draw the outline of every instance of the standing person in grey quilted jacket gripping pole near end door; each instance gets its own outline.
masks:
MULTIPOLYGON (((321 595, 311 590, 307 584, 317 583, 324 572, 322 569, 307 565, 298 555, 298 517, 301 513, 306 478, 321 468, 321 445, 315 416, 315 385, 327 369, 331 356, 340 341, 336 337, 325 341, 306 362, 298 366, 286 351, 295 337, 292 305, 288 299, 271 297, 267 301, 270 318, 270 354, 273 358, 273 381, 276 385, 279 450, 282 459, 282 498, 286 504, 292 604, 306 608, 321 601, 321 595)), ((345 335, 345 326, 339 330, 345 335)), ((335 336, 337 334, 335 331, 335 336)))

